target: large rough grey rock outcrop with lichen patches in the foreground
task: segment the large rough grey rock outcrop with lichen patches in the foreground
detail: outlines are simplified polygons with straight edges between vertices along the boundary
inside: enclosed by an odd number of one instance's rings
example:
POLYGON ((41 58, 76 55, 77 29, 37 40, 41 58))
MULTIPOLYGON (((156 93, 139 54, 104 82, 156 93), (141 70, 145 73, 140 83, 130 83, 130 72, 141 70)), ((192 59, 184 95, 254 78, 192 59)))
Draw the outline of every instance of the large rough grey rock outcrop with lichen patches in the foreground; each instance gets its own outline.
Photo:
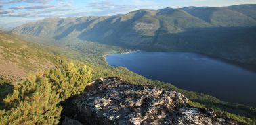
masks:
POLYGON ((187 103, 181 93, 111 77, 66 101, 62 124, 240 124, 187 103))

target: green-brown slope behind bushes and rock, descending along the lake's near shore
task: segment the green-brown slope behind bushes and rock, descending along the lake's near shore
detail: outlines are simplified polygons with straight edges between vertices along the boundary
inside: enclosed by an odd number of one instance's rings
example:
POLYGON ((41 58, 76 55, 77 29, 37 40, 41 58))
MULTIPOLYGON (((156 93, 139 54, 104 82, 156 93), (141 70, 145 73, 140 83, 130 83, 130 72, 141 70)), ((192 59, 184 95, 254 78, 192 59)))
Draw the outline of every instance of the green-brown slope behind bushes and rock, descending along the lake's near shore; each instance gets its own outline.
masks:
POLYGON ((123 48, 81 41, 73 41, 73 44, 63 41, 63 45, 61 46, 54 45, 56 43, 58 44, 58 42, 54 42, 51 46, 45 46, 33 43, 40 42, 39 39, 35 39, 33 42, 23 39, 25 38, 14 34, 1 33, 1 54, 3 54, 1 61, 3 61, 5 67, 9 67, 9 69, 1 68, 1 75, 3 77, 6 75, 11 77, 26 77, 26 73, 28 72, 35 73, 38 69, 52 69, 62 66, 64 62, 72 61, 76 65, 91 65, 93 67, 93 79, 98 79, 99 77, 119 77, 133 84, 154 85, 164 90, 178 91, 191 100, 189 104, 192 106, 213 108, 217 114, 233 118, 240 122, 255 122, 255 108, 226 103, 209 95, 178 89, 169 83, 146 79, 124 67, 110 67, 104 62, 104 58, 102 57, 104 54, 110 52, 127 52, 123 48))

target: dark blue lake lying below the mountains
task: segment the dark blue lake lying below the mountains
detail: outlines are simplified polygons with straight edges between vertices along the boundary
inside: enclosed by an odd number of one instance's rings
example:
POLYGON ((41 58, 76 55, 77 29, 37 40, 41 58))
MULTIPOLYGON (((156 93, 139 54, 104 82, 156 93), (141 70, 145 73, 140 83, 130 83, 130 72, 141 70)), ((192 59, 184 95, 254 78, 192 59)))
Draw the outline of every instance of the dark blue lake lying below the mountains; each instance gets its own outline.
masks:
POLYGON ((226 61, 188 52, 109 54, 111 66, 123 66, 146 78, 256 107, 256 72, 226 61))

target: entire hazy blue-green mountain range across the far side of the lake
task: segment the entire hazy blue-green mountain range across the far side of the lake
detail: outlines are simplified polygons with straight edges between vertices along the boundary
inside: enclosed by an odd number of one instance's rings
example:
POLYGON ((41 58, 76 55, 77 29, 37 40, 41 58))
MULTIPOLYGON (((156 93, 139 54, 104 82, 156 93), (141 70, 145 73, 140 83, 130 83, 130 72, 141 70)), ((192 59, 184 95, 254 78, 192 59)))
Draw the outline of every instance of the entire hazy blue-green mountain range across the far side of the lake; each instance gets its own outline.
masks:
POLYGON ((86 40, 142 50, 198 52, 256 64, 256 5, 47 18, 23 24, 12 32, 54 41, 86 40))

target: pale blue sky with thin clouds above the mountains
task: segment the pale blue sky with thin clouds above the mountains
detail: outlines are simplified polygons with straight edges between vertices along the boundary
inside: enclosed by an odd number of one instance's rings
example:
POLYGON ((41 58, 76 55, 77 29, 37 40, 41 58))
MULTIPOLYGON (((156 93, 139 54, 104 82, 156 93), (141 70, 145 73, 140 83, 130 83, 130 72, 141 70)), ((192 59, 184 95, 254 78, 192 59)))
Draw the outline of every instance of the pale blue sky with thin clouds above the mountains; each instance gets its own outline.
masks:
POLYGON ((81 17, 124 14, 137 9, 256 4, 256 0, 0 0, 0 28, 45 17, 81 17))

